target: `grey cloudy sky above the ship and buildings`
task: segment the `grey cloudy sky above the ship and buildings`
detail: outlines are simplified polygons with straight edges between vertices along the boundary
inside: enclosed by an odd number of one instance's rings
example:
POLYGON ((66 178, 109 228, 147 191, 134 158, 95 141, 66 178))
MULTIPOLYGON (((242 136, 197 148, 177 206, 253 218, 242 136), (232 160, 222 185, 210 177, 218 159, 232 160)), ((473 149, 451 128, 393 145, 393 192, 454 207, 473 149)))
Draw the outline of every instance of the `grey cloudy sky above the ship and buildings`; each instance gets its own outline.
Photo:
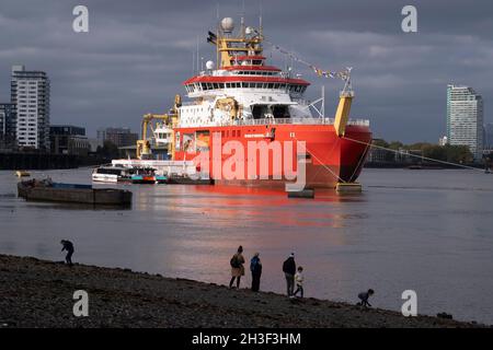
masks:
MULTIPOLYGON (((260 0, 245 1, 257 23, 260 0)), ((267 38, 317 66, 354 67, 353 117, 371 121, 375 137, 432 141, 445 132, 447 83, 483 95, 485 119, 493 100, 491 0, 263 0, 267 38), (401 9, 414 4, 419 32, 401 31, 401 9)), ((44 70, 51 80, 51 122, 138 130, 141 115, 168 109, 192 74, 197 36, 200 56, 214 58, 206 34, 220 16, 239 18, 241 0, 1 0, 0 101, 10 98, 10 67, 44 70), (90 32, 72 31, 72 9, 85 4, 90 32)), ((265 47, 267 57, 284 58, 265 47)), ((312 82, 309 97, 326 86, 326 114, 340 81, 295 70, 312 82)))

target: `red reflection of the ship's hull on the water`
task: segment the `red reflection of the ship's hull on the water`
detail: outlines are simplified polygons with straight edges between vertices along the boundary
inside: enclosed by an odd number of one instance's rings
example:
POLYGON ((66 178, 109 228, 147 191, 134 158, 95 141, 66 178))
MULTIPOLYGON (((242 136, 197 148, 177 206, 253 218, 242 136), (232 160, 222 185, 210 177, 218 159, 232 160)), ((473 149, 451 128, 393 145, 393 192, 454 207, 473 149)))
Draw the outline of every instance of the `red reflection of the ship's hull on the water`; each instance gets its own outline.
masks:
POLYGON ((326 190, 314 200, 293 200, 282 190, 268 188, 165 186, 154 187, 152 191, 137 190, 136 197, 137 210, 160 212, 185 225, 207 222, 206 230, 211 231, 283 226, 299 228, 300 232, 312 228, 328 233, 366 218, 345 210, 347 202, 362 201, 364 196, 341 196, 333 190, 326 190))

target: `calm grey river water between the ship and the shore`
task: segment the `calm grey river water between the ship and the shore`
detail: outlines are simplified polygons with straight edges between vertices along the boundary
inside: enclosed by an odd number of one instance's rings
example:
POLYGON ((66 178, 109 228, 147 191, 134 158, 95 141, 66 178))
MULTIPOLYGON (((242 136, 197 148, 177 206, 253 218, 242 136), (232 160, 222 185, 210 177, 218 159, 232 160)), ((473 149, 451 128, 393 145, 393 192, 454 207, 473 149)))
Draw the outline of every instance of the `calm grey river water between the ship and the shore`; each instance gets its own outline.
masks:
MULTIPOLYGON (((89 184, 91 171, 33 172, 89 184)), ((404 290, 420 314, 493 324, 493 176, 478 171, 364 170, 363 194, 318 191, 316 199, 236 187, 118 185, 130 210, 94 210, 16 198, 0 172, 0 253, 73 260, 227 284, 238 245, 260 252, 261 289, 285 291, 282 264, 295 252, 306 296, 399 311, 404 290)), ((111 186, 111 185, 110 185, 111 186)), ((249 275, 242 280, 250 283, 249 275)))

